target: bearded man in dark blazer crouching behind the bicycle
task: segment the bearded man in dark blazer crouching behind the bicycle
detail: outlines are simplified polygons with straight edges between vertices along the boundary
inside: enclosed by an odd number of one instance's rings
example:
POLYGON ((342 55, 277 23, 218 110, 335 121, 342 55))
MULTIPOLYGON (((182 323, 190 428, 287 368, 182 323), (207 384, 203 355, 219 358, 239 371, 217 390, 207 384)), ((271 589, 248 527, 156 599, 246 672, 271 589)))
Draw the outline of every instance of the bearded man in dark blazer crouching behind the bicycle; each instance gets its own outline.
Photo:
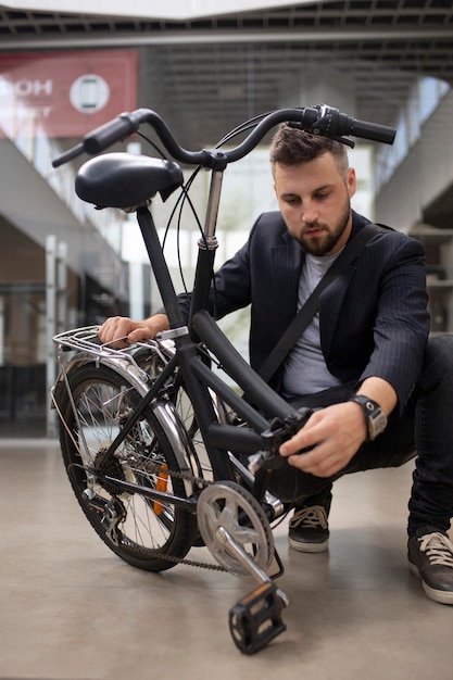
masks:
MULTIPOLYGON (((216 314, 251 303, 250 357, 259 370, 350 239, 368 222, 345 148, 282 125, 270 148, 280 212, 262 215, 246 245, 216 274, 216 314)), ((181 295, 188 313, 190 295, 181 295)), ((425 257, 414 239, 380 229, 320 295, 318 313, 272 385, 315 408, 280 448, 272 490, 294 503, 289 543, 327 550, 332 482, 416 457, 408 504, 410 568, 432 600, 453 604, 453 339, 428 340, 425 257), (309 451, 306 451, 309 450, 309 451)), ((114 317, 104 342, 153 337, 164 314, 114 317)))

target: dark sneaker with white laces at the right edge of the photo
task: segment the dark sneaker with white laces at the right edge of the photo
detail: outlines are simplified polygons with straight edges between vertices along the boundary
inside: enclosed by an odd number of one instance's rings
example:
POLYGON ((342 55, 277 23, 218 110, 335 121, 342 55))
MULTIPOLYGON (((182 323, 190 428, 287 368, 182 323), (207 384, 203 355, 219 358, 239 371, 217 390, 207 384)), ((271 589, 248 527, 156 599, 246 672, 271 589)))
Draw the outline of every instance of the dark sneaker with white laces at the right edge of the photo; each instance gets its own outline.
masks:
POLYGON ((421 527, 410 538, 408 566, 421 579, 435 602, 453 604, 453 543, 433 527, 421 527))

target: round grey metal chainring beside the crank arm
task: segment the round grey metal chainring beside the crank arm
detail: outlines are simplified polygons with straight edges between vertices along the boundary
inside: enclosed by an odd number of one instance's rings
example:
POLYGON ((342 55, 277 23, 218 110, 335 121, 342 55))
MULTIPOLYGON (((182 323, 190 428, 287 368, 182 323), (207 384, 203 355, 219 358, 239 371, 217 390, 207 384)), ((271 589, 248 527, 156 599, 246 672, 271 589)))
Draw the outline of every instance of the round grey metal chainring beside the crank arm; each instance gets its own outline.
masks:
POLYGON ((256 499, 232 481, 214 482, 203 489, 197 503, 197 520, 201 537, 215 559, 235 576, 250 571, 219 540, 222 527, 266 571, 274 558, 274 538, 268 519, 256 499))

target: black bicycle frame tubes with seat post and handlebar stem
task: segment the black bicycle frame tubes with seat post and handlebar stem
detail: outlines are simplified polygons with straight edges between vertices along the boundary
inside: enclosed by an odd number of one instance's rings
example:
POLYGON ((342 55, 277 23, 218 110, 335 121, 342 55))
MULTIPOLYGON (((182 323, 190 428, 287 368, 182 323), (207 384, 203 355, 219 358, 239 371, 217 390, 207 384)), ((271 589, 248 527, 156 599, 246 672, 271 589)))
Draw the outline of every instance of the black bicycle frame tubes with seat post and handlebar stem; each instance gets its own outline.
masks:
MULTIPOLYGON (((218 173, 219 171, 215 171, 213 175, 218 176, 218 173)), ((260 378, 207 312, 215 253, 213 241, 216 209, 213 202, 218 202, 219 198, 219 191, 215 187, 214 189, 216 197, 210 200, 207 209, 207 232, 200 240, 189 326, 186 325, 150 211, 139 209, 137 219, 169 322, 169 331, 165 332, 165 337, 172 338, 175 343, 176 362, 185 390, 193 405, 214 478, 228 479, 231 478, 231 468, 229 458, 225 455, 226 451, 250 454, 266 449, 268 439, 263 437, 263 432, 268 430, 270 421, 274 418, 284 420, 295 417, 298 412, 260 378), (212 244, 212 248, 206 244, 212 244), (199 350, 200 340, 243 391, 243 398, 205 365, 199 350), (219 425, 209 388, 252 429, 219 425)), ((152 390, 154 391, 156 390, 152 390)))

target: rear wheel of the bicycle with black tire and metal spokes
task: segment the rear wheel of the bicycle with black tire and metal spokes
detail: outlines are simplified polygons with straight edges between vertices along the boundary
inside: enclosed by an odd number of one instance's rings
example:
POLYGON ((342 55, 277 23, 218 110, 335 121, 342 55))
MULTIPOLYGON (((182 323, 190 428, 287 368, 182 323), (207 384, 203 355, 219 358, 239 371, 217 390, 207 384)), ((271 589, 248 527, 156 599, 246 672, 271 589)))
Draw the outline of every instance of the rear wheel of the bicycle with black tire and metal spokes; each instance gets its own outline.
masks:
MULTIPOLYGON (((192 545, 196 515, 139 492, 118 493, 114 484, 102 483, 87 471, 96 469, 96 457, 113 441, 140 395, 125 378, 95 362, 78 366, 67 379, 72 399, 67 390, 62 391, 60 443, 84 514, 108 547, 128 564, 149 571, 172 568, 192 545)), ((162 473, 180 471, 171 441, 154 410, 148 407, 109 462, 109 476, 151 488, 161 483, 174 495, 187 498, 184 480, 162 473), (160 474, 146 469, 150 462, 162 466, 160 474)))

